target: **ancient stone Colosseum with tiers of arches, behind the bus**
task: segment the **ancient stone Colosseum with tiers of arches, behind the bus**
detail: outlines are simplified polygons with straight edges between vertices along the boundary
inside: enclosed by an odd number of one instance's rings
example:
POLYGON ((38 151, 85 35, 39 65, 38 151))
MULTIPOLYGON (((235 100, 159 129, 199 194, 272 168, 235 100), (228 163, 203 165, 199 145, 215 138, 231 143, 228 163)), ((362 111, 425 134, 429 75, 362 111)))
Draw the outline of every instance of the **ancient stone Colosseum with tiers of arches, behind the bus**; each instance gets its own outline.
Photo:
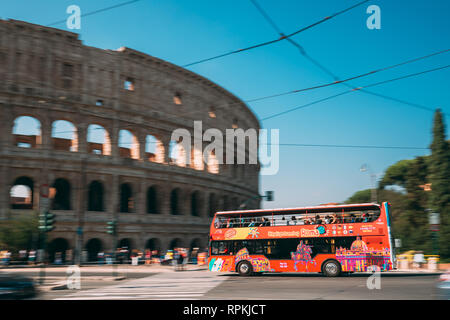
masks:
POLYGON ((185 161, 172 140, 199 120, 203 130, 259 129, 245 103, 202 76, 0 20, 0 79, 0 219, 37 214, 48 186, 50 255, 206 247, 214 212, 259 207, 258 164, 219 164, 214 154, 198 161, 194 147, 185 161), (116 238, 106 232, 112 220, 116 238))

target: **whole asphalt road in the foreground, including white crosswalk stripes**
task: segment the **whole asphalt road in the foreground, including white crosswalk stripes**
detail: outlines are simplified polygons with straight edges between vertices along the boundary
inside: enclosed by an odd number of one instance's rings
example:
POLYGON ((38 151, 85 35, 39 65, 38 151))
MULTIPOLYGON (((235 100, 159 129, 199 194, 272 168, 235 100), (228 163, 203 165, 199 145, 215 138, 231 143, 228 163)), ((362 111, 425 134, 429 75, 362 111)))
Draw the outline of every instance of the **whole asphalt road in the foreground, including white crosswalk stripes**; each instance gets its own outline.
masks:
MULTIPOLYGON (((83 271, 81 290, 51 290, 47 287, 37 299, 63 300, 435 300, 449 299, 449 291, 438 288, 438 274, 381 273, 378 286, 368 288, 371 274, 351 274, 327 278, 320 274, 280 273, 241 277, 234 273, 206 270, 174 272, 159 268, 127 272, 117 280, 111 273, 83 271), (150 272, 152 271, 152 272, 150 272), (378 289, 379 288, 379 289, 378 289)), ((30 271, 28 271, 30 272, 30 271)), ((34 274, 36 275, 36 274, 34 274)), ((59 271, 48 272, 47 282, 65 279, 59 271)), ((373 279, 372 279, 373 280, 373 279)), ((375 282, 372 283, 372 286, 375 282)))

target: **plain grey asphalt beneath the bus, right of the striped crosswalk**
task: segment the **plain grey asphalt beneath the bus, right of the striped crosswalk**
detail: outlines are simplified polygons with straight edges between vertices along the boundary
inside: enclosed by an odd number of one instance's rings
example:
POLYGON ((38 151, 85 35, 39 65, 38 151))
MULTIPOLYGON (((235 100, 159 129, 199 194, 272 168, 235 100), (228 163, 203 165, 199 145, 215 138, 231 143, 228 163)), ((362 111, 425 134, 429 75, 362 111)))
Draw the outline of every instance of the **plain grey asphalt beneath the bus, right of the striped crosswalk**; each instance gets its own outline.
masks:
POLYGON ((206 299, 283 300, 430 300, 448 299, 437 288, 438 275, 384 273, 379 289, 369 289, 370 274, 327 278, 318 274, 265 274, 258 277, 228 276, 207 293, 206 299))

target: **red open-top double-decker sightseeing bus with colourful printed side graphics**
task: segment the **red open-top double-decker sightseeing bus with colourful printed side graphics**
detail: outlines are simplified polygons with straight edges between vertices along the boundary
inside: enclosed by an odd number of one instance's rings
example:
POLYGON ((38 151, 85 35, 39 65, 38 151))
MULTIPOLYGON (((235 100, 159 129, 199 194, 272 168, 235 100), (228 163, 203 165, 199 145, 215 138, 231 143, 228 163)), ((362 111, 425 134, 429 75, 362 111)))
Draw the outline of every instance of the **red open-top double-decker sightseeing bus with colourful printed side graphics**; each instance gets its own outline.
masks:
POLYGON ((335 277, 391 270, 394 259, 387 202, 223 211, 210 228, 210 271, 335 277))

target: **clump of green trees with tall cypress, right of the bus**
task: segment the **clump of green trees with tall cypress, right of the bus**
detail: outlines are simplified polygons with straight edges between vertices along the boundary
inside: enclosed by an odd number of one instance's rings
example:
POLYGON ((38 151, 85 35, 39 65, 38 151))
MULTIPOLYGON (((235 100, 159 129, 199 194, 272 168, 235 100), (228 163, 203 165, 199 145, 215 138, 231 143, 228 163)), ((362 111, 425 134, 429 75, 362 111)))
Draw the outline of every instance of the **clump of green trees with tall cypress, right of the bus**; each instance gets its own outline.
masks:
MULTIPOLYGON (((391 204, 392 232, 402 240, 402 251, 433 253, 428 210, 440 214, 439 254, 450 258, 450 142, 442 113, 434 115, 431 155, 401 160, 390 166, 379 183, 378 199, 391 204), (424 185, 431 183, 431 191, 424 185), (405 194, 386 189, 400 186, 405 194)), ((370 201, 370 189, 356 192, 346 202, 370 201)))

